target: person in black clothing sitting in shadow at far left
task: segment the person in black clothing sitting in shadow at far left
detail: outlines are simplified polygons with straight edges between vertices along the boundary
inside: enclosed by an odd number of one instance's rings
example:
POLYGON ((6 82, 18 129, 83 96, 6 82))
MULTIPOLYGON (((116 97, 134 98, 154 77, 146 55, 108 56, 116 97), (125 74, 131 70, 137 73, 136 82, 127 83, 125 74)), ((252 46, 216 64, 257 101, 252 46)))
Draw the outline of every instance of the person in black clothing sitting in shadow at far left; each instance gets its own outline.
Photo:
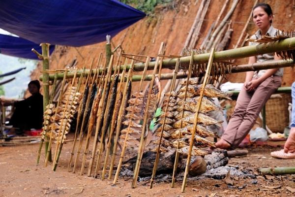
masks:
POLYGON ((15 107, 8 125, 18 129, 15 131, 11 130, 10 134, 23 134, 25 130, 42 128, 43 96, 39 93, 40 82, 38 80, 30 81, 28 89, 31 96, 27 99, 12 101, 11 103, 1 100, 4 106, 14 105, 15 107))

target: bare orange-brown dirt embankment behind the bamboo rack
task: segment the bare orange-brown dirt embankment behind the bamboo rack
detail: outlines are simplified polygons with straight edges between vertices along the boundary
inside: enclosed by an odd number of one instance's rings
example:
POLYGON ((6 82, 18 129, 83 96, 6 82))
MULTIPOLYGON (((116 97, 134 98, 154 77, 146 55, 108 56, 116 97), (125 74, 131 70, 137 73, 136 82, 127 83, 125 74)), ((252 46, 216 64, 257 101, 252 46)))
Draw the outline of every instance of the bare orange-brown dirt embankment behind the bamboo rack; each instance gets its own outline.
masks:
MULTIPOLYGON (((196 48, 201 45, 225 1, 226 0, 211 0, 196 48)), ((251 13, 254 1, 255 0, 241 0, 237 4, 231 17, 234 33, 232 35, 229 49, 233 48, 236 44, 249 14, 251 13)), ((231 3, 227 6, 227 11, 224 15, 231 8, 232 1, 230 2, 231 3)), ((280 30, 295 29, 294 0, 265 0, 265 2, 269 3, 273 9, 275 15, 273 26, 275 28, 280 30)), ((113 37, 113 48, 120 44, 126 53, 156 56, 160 43, 164 41, 166 43, 167 55, 179 55, 194 22, 200 3, 201 0, 176 0, 173 6, 174 8, 168 9, 158 6, 155 14, 142 19, 113 37)), ((221 18, 223 17, 224 16, 221 18)), ((246 32, 253 34, 255 31, 255 25, 250 23, 246 32)), ((98 58, 99 53, 104 53, 104 51, 105 42, 83 47, 57 46, 50 58, 50 67, 52 69, 63 68, 75 57, 78 60, 78 67, 89 67, 91 60, 93 58, 98 58)), ((237 60, 236 63, 247 64, 247 58, 237 60)), ((38 78, 40 76, 40 70, 41 66, 39 65, 32 73, 32 78, 38 78)), ((230 75, 229 79, 231 82, 243 82, 244 76, 244 73, 237 73, 230 75)), ((282 86, 290 86, 294 77, 294 70, 290 67, 285 68, 282 86)))

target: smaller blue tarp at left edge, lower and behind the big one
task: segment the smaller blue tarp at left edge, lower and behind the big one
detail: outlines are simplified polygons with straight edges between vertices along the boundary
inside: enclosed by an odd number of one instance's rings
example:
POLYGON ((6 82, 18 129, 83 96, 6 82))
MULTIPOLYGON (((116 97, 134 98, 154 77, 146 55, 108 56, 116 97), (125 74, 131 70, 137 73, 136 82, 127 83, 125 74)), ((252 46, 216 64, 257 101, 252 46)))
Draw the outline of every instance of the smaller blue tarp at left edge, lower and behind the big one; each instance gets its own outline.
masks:
MULTIPOLYGON (((54 45, 50 46, 50 54, 54 51, 54 47, 54 45)), ((32 48, 34 48, 40 54, 42 53, 40 44, 35 44, 20 37, 0 34, 0 54, 37 60, 38 57, 36 54, 31 52, 32 48)))

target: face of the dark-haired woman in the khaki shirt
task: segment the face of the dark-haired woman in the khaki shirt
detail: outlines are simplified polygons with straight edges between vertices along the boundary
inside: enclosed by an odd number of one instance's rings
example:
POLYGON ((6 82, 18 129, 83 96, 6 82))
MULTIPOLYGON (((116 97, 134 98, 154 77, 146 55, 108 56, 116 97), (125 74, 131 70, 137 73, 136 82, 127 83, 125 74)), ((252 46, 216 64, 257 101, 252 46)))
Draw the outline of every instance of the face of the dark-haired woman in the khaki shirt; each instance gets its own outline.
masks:
POLYGON ((256 7, 253 10, 253 22, 255 23, 256 27, 261 30, 269 28, 272 18, 272 15, 268 16, 266 11, 262 7, 256 7))

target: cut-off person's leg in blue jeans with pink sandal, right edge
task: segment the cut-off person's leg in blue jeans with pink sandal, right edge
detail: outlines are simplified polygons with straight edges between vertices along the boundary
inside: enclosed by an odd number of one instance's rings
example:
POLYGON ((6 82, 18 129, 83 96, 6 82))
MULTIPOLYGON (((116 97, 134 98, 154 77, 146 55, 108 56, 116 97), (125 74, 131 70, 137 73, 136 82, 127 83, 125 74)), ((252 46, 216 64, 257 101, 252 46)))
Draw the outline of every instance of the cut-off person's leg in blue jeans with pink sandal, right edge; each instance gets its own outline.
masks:
POLYGON ((280 151, 271 152, 270 155, 280 159, 295 159, 295 82, 291 88, 292 95, 292 113, 291 113, 291 130, 288 139, 285 143, 284 149, 280 151))

